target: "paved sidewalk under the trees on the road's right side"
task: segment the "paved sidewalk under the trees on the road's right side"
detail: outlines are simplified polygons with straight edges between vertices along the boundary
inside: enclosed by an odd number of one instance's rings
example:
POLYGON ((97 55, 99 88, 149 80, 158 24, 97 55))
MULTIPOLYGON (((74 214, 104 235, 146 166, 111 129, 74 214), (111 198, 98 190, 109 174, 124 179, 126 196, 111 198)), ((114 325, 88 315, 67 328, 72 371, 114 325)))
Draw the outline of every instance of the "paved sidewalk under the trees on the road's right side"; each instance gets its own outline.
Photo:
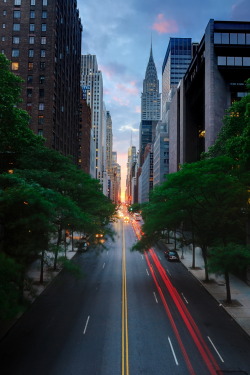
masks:
MULTIPOLYGON (((164 245, 168 249, 174 249, 174 244, 164 245)), ((182 250, 177 249, 180 260, 184 266, 199 280, 204 288, 218 301, 218 303, 231 315, 231 317, 241 326, 241 328, 250 335, 250 286, 236 276, 230 274, 230 287, 232 304, 229 306, 225 303, 226 286, 223 276, 209 274, 210 282, 204 283, 205 270, 204 260, 201 249, 195 249, 195 269, 192 269, 192 250, 189 246, 182 250)))

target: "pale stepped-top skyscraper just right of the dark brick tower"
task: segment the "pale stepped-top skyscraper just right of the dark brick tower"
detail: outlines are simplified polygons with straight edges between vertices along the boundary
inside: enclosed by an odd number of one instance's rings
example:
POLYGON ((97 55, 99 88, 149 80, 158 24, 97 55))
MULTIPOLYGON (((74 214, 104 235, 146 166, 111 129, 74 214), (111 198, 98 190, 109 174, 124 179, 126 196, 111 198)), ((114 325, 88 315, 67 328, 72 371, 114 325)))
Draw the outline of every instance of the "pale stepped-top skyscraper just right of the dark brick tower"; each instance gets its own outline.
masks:
POLYGON ((87 91, 87 104, 91 108, 92 137, 91 147, 92 177, 102 179, 103 156, 103 81, 102 72, 98 70, 95 55, 83 55, 81 60, 81 86, 87 91))

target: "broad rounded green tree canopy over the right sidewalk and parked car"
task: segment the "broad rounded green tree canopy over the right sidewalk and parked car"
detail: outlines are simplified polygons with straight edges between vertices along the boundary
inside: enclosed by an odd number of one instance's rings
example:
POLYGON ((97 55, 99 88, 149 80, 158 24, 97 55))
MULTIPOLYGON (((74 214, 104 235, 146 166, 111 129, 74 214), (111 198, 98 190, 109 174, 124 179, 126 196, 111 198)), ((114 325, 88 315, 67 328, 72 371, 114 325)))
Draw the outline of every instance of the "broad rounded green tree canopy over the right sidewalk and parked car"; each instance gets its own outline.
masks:
POLYGON ((218 157, 185 164, 169 175, 143 209, 143 237, 154 241, 164 230, 183 223, 192 227, 201 247, 242 236, 246 190, 234 175, 233 164, 230 158, 218 157))

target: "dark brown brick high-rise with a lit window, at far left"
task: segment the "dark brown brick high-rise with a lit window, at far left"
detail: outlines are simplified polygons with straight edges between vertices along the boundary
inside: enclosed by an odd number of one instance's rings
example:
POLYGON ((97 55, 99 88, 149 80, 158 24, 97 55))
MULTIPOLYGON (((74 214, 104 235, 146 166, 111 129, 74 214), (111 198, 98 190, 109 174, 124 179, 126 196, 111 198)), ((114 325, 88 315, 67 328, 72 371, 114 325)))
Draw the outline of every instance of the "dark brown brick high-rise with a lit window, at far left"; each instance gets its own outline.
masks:
POLYGON ((31 129, 77 163, 82 25, 76 1, 2 1, 0 14, 0 51, 24 80, 21 106, 31 129))

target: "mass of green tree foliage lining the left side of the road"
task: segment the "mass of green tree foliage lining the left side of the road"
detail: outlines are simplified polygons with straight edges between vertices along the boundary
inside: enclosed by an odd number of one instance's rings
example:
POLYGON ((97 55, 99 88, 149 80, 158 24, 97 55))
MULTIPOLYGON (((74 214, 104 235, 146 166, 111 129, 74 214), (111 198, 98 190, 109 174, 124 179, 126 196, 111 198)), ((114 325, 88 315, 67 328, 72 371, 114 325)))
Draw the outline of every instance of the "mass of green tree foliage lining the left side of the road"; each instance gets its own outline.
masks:
POLYGON ((8 299, 7 284, 0 278, 1 316, 4 311, 9 315, 11 304, 13 311, 18 308, 25 269, 48 249, 52 234, 58 234, 55 266, 63 229, 111 234, 106 224, 115 212, 97 180, 45 147, 44 139, 30 130, 27 112, 18 107, 22 81, 9 66, 0 54, 0 157, 13 163, 11 168, 1 165, 1 171, 14 170, 13 175, 0 174, 0 250, 5 254, 0 267, 9 267, 6 280, 16 277, 18 286, 9 290, 8 299))

